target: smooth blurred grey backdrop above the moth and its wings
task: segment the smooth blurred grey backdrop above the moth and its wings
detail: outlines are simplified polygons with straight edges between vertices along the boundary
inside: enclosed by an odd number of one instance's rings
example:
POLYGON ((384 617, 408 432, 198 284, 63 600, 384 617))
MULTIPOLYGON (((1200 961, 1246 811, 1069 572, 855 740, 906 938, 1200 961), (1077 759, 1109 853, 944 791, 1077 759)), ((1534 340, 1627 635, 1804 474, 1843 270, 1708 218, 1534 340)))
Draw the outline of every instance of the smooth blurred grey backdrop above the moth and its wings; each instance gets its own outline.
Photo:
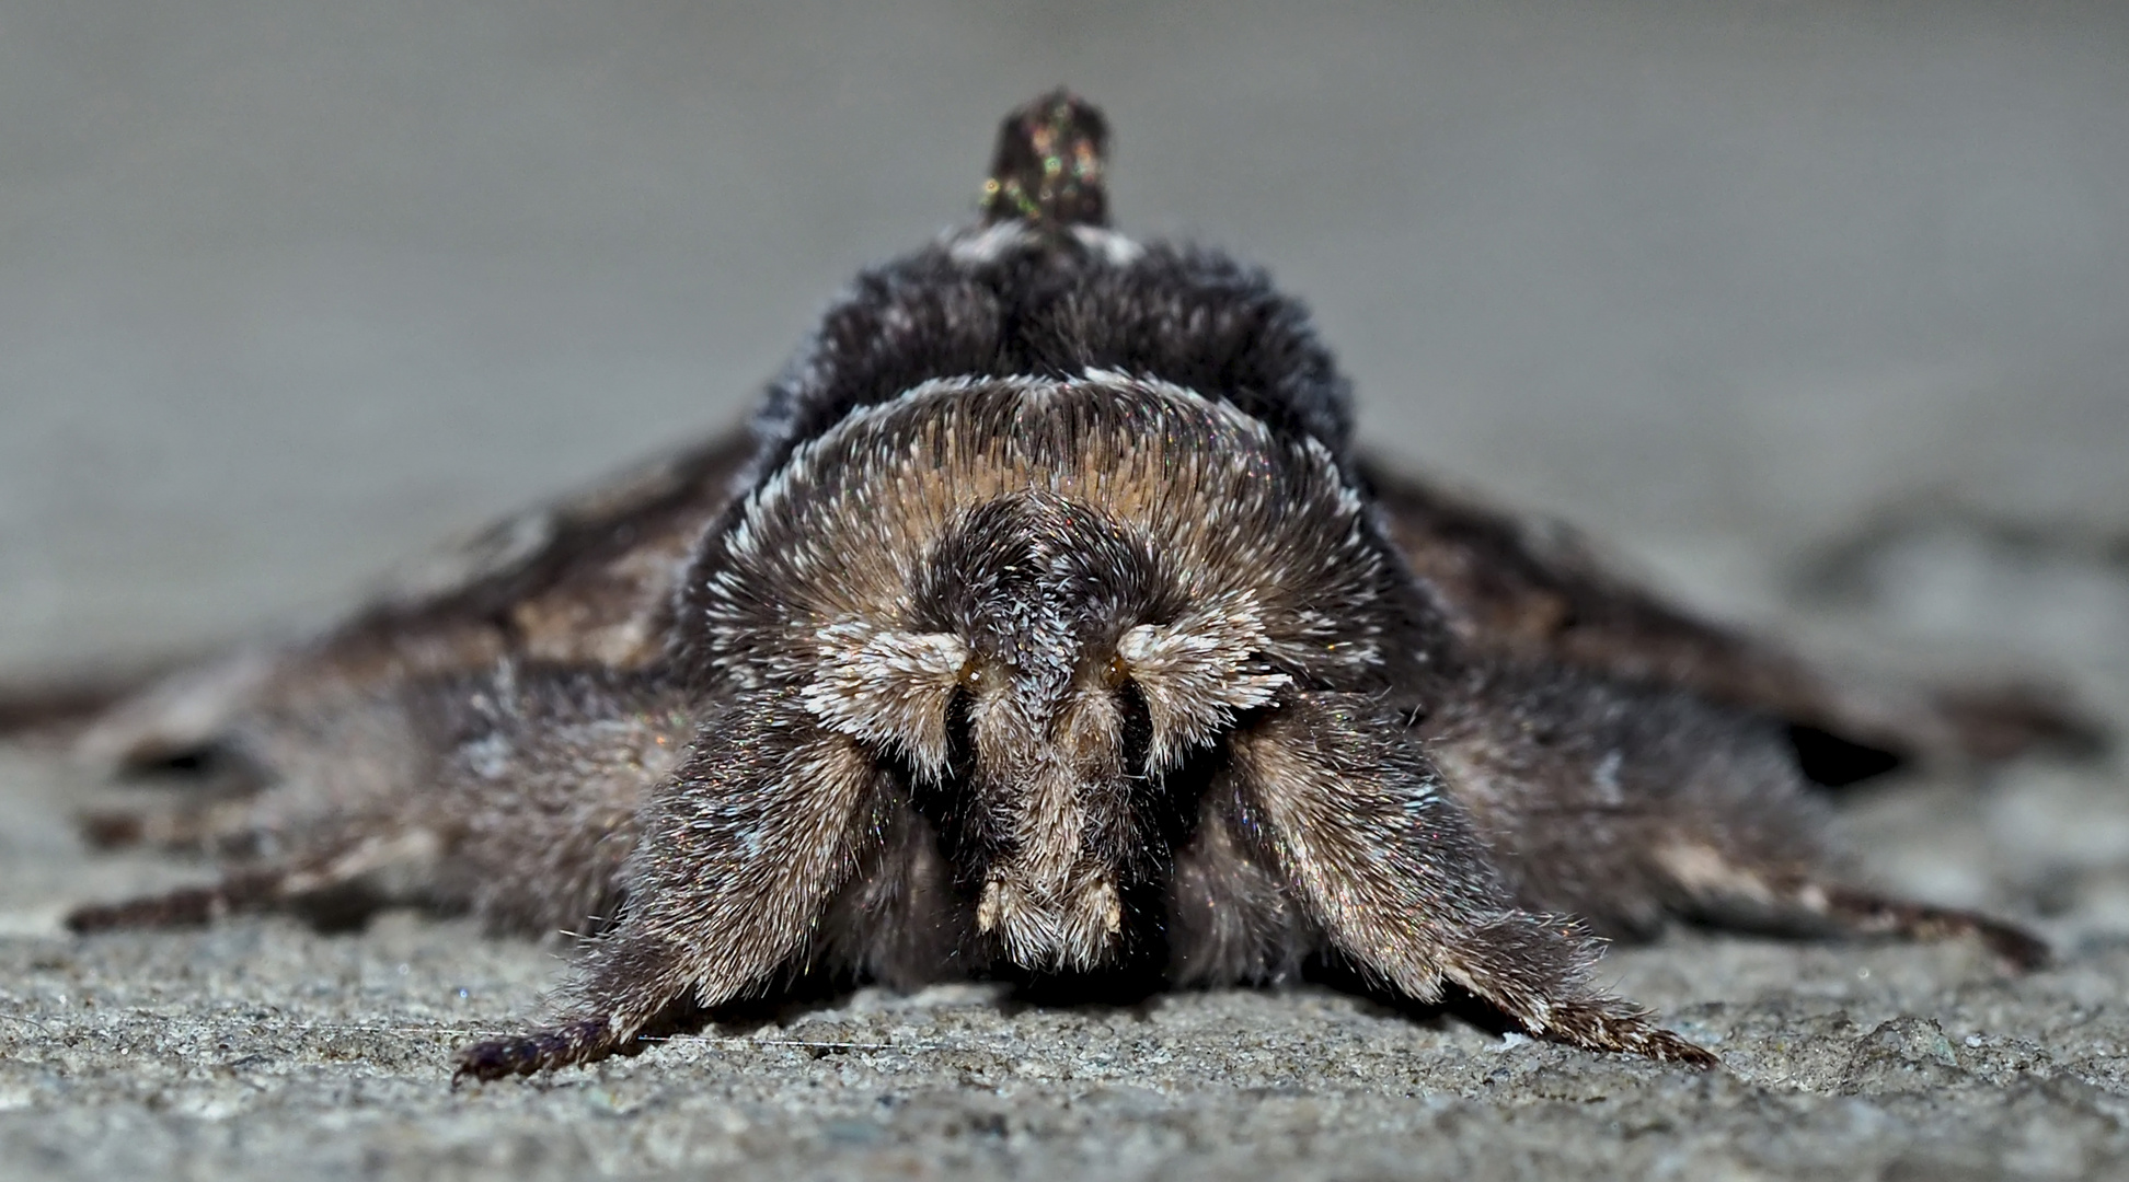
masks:
POLYGON ((1056 83, 1375 446, 1716 610, 1884 504, 2129 525, 2129 4, 0 0, 0 672, 737 421, 1056 83))

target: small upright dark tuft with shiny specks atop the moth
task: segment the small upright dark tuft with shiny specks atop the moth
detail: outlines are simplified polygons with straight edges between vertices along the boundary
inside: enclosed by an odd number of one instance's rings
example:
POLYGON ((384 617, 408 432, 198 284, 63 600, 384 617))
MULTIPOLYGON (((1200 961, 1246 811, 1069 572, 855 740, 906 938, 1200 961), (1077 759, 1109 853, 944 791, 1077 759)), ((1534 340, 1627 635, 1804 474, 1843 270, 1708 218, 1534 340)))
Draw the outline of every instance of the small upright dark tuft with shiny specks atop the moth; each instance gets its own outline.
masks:
POLYGON ((984 225, 1109 225, 1109 121, 1092 102, 1058 87, 999 125, 984 181, 984 225))

